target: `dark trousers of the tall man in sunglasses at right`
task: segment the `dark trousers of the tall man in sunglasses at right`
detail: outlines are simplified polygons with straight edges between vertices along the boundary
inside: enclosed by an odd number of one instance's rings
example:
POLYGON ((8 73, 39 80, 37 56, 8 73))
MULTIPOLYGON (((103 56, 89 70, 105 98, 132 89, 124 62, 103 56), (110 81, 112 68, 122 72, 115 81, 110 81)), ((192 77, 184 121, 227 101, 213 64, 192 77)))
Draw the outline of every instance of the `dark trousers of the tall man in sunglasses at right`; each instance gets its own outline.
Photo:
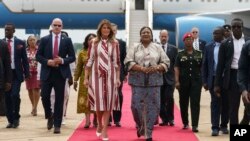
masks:
POLYGON ((230 124, 239 124, 240 90, 237 83, 237 70, 231 69, 229 87, 225 91, 229 99, 230 124))

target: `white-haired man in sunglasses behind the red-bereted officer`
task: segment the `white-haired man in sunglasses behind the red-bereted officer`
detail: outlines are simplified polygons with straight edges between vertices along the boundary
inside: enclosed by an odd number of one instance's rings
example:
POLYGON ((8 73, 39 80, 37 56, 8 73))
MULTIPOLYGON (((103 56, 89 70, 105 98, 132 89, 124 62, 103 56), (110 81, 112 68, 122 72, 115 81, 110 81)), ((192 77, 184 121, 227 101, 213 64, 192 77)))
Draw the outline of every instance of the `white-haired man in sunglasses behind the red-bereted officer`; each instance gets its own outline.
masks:
POLYGON ((206 41, 199 38, 199 32, 200 31, 197 27, 193 27, 191 30, 192 36, 194 38, 193 47, 194 49, 200 50, 203 53, 203 50, 206 45, 206 41))

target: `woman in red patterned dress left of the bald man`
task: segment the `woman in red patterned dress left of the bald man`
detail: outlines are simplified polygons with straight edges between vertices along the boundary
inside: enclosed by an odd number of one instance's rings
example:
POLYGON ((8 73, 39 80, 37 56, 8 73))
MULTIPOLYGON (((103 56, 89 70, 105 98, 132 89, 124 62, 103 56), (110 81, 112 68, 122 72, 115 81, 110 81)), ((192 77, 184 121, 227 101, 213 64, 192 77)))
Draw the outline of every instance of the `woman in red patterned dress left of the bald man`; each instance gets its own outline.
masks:
POLYGON ((33 116, 37 116, 37 104, 40 98, 40 81, 37 80, 37 64, 36 61, 36 37, 31 35, 27 39, 27 56, 29 61, 29 71, 30 71, 30 78, 25 80, 26 88, 29 93, 29 98, 32 104, 32 111, 31 114, 33 116))

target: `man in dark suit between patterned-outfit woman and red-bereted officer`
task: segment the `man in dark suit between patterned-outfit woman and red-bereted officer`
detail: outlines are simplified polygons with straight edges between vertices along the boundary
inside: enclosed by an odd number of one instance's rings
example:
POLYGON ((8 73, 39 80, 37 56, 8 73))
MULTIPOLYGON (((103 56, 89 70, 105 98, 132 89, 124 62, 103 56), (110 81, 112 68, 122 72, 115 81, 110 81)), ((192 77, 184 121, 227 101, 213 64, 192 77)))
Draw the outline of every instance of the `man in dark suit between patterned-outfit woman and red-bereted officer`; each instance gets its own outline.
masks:
POLYGON ((174 126, 174 88, 175 88, 175 79, 174 79, 174 63, 178 53, 177 48, 174 45, 168 43, 168 31, 160 31, 160 41, 161 46, 166 52, 168 58, 170 59, 170 66, 168 71, 163 74, 163 85, 161 86, 161 109, 160 117, 162 123, 160 126, 174 126))

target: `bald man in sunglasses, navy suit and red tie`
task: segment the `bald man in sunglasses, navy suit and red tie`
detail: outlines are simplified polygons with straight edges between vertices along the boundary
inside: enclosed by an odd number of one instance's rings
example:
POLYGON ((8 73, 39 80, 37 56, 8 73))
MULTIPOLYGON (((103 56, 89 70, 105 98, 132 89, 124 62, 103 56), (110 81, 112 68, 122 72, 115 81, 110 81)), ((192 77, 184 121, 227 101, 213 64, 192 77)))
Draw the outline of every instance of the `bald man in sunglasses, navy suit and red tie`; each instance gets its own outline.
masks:
POLYGON ((66 78, 71 77, 69 64, 75 61, 75 52, 71 38, 62 36, 63 22, 59 18, 52 21, 52 32, 41 38, 36 59, 41 63, 41 97, 48 119, 47 128, 54 125, 54 133, 61 133, 63 115, 64 87, 66 78), (50 94, 55 90, 54 113, 51 111, 50 94))

